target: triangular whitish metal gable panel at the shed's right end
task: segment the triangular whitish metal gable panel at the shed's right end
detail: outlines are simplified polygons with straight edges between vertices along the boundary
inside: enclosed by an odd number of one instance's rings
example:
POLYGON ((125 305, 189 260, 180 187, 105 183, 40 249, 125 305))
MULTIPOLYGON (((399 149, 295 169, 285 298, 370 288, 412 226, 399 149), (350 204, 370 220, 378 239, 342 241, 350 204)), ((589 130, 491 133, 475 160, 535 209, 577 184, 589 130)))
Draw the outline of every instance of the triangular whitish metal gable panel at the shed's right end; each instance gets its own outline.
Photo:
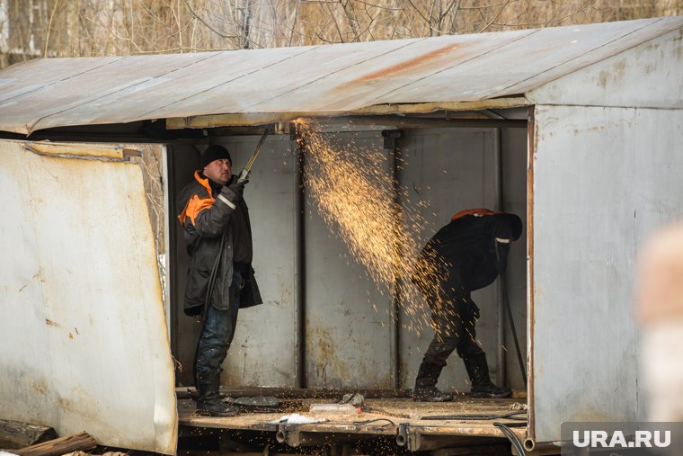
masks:
POLYGON ((538 87, 528 98, 539 104, 680 109, 682 87, 683 30, 678 29, 538 87))

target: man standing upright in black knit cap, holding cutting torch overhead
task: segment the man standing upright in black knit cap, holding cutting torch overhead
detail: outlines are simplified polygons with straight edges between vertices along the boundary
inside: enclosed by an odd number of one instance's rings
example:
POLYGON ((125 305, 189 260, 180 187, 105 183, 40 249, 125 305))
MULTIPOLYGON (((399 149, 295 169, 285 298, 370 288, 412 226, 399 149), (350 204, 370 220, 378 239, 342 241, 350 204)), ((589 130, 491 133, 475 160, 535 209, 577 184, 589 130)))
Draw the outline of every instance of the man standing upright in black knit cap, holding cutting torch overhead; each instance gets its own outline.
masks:
POLYGON ((239 308, 262 303, 253 276, 252 229, 243 198, 248 181, 231 170, 227 149, 209 146, 178 206, 191 257, 185 313, 202 317, 194 373, 197 413, 203 416, 237 414, 238 408, 219 396, 222 363, 235 335, 239 308))

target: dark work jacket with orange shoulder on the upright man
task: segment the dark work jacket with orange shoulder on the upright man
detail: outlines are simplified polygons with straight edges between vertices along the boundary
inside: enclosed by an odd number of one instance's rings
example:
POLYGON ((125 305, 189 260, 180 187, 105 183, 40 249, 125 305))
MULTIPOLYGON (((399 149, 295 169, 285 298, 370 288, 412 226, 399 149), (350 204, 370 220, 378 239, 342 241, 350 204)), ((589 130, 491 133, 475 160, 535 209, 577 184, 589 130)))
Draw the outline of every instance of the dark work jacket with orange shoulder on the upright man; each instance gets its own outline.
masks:
MULTIPOLYGON (((183 228, 185 247, 190 255, 185 286, 185 313, 197 315, 206 303, 208 290, 218 308, 229 306, 228 289, 233 280, 233 238, 229 221, 235 210, 243 210, 249 226, 249 212, 244 200, 227 186, 212 189, 208 178, 194 174, 194 182, 185 187, 179 199, 182 208, 178 219, 183 228), (238 209, 238 206, 240 209, 238 209)), ((251 228, 250 228, 251 238, 251 228)), ((251 240, 250 240, 251 242, 251 240)), ((240 308, 262 304, 261 293, 248 265, 244 273, 240 308)))

